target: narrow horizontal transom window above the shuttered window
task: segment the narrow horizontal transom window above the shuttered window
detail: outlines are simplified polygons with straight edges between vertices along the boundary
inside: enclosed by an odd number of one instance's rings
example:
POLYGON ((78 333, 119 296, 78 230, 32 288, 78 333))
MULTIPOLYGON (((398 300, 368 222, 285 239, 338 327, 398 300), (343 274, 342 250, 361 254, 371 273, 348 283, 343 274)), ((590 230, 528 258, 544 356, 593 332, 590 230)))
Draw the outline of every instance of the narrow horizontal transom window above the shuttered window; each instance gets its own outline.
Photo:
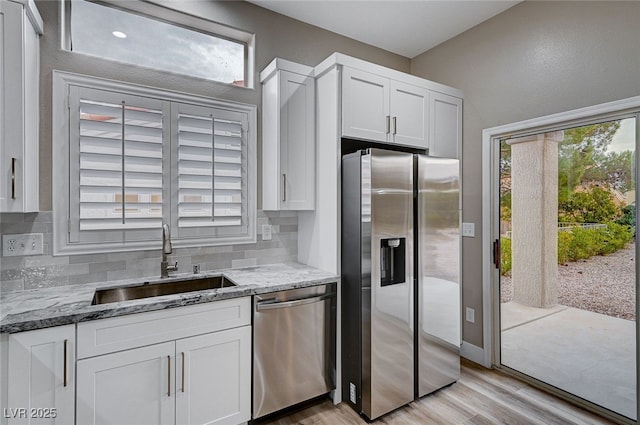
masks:
POLYGON ((64 4, 67 50, 250 87, 252 34, 139 1, 64 4))

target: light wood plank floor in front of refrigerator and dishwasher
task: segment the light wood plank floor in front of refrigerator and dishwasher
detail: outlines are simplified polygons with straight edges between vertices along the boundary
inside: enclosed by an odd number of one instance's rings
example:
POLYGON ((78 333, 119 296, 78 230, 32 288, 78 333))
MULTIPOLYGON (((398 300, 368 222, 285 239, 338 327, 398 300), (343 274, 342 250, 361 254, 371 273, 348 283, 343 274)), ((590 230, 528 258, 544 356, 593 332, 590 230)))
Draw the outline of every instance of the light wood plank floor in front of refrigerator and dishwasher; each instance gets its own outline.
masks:
MULTIPOLYGON (((455 384, 372 422, 374 424, 613 424, 515 378, 462 361, 455 384)), ((345 403, 321 400, 260 425, 367 424, 345 403)))

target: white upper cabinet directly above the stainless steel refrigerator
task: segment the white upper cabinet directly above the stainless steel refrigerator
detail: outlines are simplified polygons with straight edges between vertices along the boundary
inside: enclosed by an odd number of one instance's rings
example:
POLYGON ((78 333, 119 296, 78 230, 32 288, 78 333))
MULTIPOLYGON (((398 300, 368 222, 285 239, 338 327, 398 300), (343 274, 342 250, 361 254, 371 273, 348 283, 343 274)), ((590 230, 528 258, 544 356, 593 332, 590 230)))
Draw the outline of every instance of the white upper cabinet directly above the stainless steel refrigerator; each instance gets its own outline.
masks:
MULTIPOLYGON (((315 68, 341 73, 340 135, 459 158, 462 94, 414 75, 335 53, 315 68)), ((318 123, 326 125, 326 123, 318 123)))

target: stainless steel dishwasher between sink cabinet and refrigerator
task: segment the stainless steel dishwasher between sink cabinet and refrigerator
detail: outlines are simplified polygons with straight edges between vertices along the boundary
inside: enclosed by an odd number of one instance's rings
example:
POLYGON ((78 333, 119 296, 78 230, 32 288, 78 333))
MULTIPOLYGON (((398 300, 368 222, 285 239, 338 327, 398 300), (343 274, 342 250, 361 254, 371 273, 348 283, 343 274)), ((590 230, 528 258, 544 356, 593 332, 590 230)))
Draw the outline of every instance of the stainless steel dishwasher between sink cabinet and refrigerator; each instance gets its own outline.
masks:
POLYGON ((335 312, 335 283, 254 296, 254 419, 335 389, 335 312))

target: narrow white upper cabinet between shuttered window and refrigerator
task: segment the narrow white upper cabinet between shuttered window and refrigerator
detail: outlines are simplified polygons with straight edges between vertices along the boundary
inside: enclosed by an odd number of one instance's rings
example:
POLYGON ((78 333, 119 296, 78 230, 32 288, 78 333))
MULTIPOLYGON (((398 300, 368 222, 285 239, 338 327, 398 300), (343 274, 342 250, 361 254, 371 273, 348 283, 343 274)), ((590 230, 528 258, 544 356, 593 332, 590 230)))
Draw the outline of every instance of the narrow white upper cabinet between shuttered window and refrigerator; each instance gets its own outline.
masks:
POLYGON ((262 207, 315 208, 315 81, 312 68, 275 59, 262 82, 262 207))

